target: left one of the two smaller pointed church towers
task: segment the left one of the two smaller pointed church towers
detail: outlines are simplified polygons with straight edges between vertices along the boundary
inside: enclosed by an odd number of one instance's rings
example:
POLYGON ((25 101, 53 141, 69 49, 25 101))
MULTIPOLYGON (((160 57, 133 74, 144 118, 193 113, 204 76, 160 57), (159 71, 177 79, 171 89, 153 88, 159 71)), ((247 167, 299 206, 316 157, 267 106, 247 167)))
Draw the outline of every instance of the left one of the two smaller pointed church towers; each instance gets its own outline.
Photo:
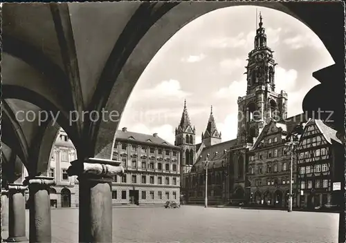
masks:
POLYGON ((184 101, 183 114, 178 128, 175 129, 175 146, 181 150, 181 174, 189 173, 194 164, 194 153, 196 153, 196 129, 191 126, 186 100, 184 101))

